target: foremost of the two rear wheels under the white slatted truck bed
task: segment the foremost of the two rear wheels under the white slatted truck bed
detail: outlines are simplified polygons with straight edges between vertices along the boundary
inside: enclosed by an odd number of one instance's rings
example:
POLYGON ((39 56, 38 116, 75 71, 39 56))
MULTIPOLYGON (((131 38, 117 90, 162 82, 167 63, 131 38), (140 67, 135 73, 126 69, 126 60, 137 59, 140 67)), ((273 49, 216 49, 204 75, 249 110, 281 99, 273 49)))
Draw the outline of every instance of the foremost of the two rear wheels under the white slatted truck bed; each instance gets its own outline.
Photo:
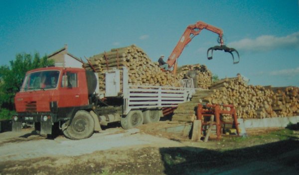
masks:
POLYGON ((121 125, 124 129, 131 129, 142 125, 144 117, 141 111, 130 111, 126 117, 121 118, 121 125))

